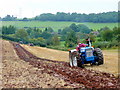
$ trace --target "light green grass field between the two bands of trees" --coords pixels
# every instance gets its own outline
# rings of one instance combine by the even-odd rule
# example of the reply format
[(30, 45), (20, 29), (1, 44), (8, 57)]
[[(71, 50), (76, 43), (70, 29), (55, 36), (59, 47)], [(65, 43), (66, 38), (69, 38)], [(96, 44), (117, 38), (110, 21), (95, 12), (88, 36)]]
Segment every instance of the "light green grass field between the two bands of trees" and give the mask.
[(118, 26), (118, 23), (77, 23), (77, 22), (54, 22), (54, 21), (3, 21), (2, 26), (14, 25), (17, 28), (39, 27), (41, 29), (46, 27), (52, 27), (56, 31), (58, 29), (63, 29), (64, 27), (67, 27), (72, 23), (85, 24), (86, 26), (93, 30), (97, 30), (105, 26), (109, 27), (110, 29), (112, 29), (115, 26)]

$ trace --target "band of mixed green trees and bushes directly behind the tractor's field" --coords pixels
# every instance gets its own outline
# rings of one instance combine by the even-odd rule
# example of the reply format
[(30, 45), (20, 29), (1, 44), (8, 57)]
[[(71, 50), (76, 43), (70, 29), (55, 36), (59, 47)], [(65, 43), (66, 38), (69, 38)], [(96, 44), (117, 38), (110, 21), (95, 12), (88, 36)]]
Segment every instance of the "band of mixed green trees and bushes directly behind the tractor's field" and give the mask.
[(84, 24), (71, 24), (69, 27), (58, 29), (54, 32), (51, 27), (43, 30), (39, 28), (17, 29), (14, 26), (2, 26), (2, 38), (12, 41), (22, 41), (25, 44), (33, 43), (43, 47), (73, 48), (78, 42), (85, 43), (85, 39), (90, 37), (93, 45), (100, 48), (118, 47), (120, 43), (120, 28), (110, 29), (103, 27), (97, 31), (88, 28)]

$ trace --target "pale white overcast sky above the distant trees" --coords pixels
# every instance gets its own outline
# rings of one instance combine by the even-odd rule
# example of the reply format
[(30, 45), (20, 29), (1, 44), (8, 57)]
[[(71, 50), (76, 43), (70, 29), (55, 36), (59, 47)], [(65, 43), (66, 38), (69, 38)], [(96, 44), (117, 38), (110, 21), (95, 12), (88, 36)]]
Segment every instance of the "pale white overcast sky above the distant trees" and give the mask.
[(32, 18), (42, 13), (102, 13), (118, 11), (119, 0), (2, 0), (0, 17)]

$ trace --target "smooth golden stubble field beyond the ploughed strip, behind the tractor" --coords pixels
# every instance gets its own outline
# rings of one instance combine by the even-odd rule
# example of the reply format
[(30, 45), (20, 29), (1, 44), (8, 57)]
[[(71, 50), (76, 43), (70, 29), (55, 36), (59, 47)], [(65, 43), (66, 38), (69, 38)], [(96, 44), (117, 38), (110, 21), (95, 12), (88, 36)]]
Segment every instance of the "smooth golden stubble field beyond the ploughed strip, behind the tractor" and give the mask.
[[(53, 50), (43, 47), (31, 47), (27, 45), (22, 45), (25, 49), (27, 49), (32, 54), (37, 57), (52, 59), (56, 61), (65, 61), (69, 62), (69, 53), (66, 51)], [(90, 66), (85, 65), (87, 69), (93, 69), (102, 72), (108, 72), (118, 76), (118, 50), (103, 50), (104, 55), (104, 64), (100, 66)]]

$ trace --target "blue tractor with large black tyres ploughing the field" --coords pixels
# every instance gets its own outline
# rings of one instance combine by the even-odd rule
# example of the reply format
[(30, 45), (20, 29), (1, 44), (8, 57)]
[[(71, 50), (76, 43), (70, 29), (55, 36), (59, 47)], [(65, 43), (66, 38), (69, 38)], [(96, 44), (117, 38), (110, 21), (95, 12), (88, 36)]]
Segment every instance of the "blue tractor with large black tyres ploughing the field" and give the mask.
[(104, 63), (103, 54), (100, 48), (90, 46), (81, 47), (69, 51), (70, 66), (84, 67), (84, 64), (101, 65)]

